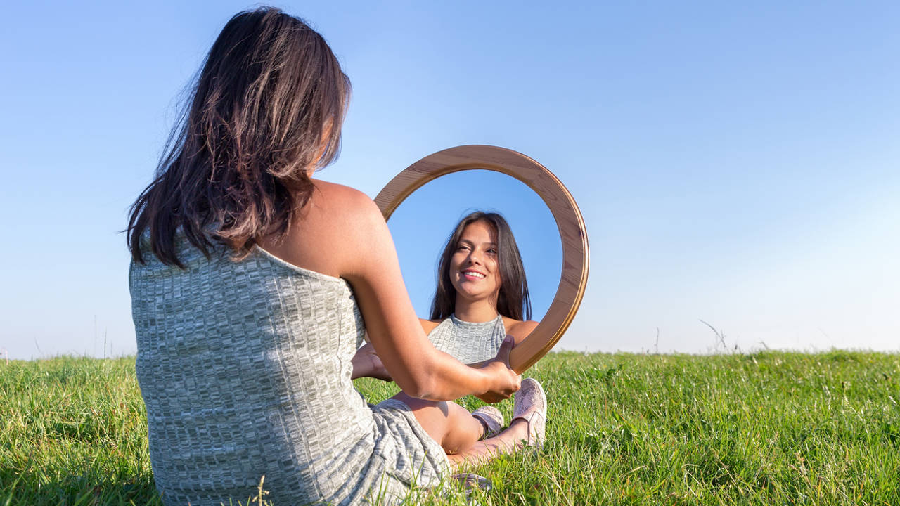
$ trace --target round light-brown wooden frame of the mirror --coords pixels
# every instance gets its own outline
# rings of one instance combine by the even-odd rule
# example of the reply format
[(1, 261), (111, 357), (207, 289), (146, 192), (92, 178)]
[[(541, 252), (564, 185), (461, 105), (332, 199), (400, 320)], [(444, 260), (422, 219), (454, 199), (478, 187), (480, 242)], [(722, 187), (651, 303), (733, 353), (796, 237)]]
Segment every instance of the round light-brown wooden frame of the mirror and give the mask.
[(422, 185), (440, 176), (477, 169), (515, 177), (534, 190), (553, 213), (563, 241), (563, 272), (553, 303), (535, 330), (509, 355), (509, 366), (522, 374), (563, 337), (578, 312), (588, 283), (588, 232), (578, 205), (563, 183), (546, 167), (518, 151), (497, 146), (456, 146), (428, 155), (394, 176), (375, 197), (375, 203), (386, 221)]

